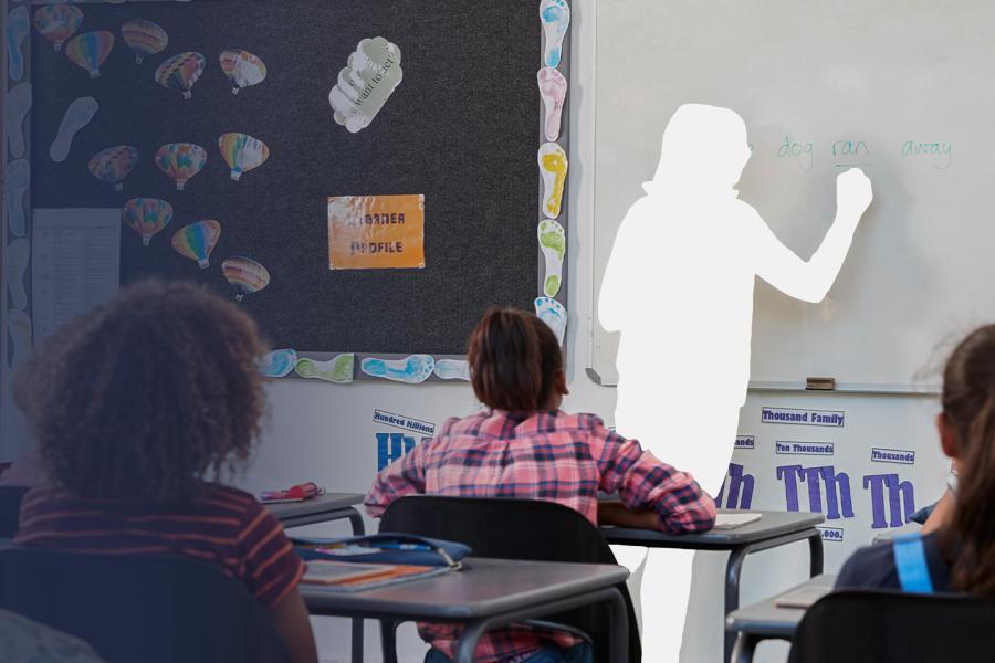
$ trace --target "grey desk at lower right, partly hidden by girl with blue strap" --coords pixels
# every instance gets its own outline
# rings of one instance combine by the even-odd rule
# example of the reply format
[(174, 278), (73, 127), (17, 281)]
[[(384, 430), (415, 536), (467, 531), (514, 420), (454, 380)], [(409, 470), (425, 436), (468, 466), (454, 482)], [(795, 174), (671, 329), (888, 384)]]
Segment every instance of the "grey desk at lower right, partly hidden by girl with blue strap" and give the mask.
[(790, 640), (802, 618), (805, 617), (805, 608), (782, 608), (777, 601), (785, 594), (805, 588), (814, 589), (816, 593), (825, 594), (832, 591), (836, 576), (824, 573), (810, 578), (797, 587), (777, 594), (776, 597), (760, 601), (746, 608), (732, 611), (725, 618), (725, 632), (736, 635), (735, 649), (730, 663), (750, 663), (753, 653), (761, 640), (778, 639)]

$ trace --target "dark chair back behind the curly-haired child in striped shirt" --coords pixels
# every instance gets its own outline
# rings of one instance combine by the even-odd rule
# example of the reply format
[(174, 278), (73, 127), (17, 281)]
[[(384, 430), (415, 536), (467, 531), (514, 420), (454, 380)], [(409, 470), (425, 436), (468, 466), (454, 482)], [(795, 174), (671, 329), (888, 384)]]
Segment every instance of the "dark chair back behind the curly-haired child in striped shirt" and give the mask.
[(75, 635), (109, 663), (286, 663), (266, 610), (180, 557), (0, 551), (0, 608)]

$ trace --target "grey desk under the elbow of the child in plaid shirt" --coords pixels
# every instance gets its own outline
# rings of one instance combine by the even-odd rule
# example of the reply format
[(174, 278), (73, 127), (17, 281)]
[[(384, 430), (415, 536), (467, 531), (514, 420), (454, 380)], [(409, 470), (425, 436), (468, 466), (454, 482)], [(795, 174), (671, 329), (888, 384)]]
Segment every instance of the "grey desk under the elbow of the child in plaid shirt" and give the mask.
[[(726, 512), (720, 511), (720, 513)], [(760, 511), (751, 511), (751, 513), (762, 514), (762, 517), (734, 529), (712, 529), (698, 534), (668, 534), (652, 529), (603, 527), (601, 534), (609, 544), (614, 545), (727, 550), (724, 614), (729, 614), (740, 607), (740, 575), (743, 570), (743, 560), (751, 552), (808, 539), (809, 576), (818, 576), (823, 572), (823, 537), (816, 527), (824, 520), (821, 514)], [(732, 634), (726, 631), (724, 661), (729, 661), (734, 642)]]

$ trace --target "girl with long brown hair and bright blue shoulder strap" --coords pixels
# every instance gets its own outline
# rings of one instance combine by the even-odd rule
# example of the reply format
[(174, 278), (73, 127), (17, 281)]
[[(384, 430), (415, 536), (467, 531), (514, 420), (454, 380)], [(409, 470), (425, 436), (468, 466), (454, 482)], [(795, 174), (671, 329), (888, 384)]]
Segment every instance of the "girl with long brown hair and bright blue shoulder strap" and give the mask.
[[(936, 429), (956, 482), (926, 534), (861, 548), (844, 565), (837, 588), (962, 591), (995, 597), (995, 325), (954, 349), (943, 372)], [(938, 511), (941, 511), (938, 507)]]

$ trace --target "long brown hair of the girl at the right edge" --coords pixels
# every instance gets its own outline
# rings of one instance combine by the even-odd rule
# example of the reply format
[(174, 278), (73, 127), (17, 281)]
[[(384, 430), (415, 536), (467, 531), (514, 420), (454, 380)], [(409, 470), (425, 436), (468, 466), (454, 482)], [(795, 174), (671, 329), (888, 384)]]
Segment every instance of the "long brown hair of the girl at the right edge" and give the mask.
[(942, 402), (964, 472), (940, 548), (954, 589), (995, 597), (995, 325), (976, 329), (954, 349), (943, 372)]

